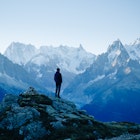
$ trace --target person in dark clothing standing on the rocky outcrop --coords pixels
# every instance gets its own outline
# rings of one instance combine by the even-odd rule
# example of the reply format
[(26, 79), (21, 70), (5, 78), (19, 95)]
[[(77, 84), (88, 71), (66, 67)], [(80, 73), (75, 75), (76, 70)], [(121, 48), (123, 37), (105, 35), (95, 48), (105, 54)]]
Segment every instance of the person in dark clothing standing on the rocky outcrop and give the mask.
[(60, 69), (57, 68), (57, 71), (54, 75), (54, 80), (56, 83), (56, 90), (55, 90), (55, 96), (60, 98), (60, 89), (61, 89), (61, 83), (62, 83), (62, 75), (60, 73)]

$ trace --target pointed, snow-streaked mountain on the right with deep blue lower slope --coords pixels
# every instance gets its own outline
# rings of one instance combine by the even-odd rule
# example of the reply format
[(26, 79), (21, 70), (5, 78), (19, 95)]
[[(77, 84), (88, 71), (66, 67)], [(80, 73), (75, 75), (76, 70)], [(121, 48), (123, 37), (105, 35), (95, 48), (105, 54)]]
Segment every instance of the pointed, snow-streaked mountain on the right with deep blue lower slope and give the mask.
[(114, 41), (106, 53), (75, 77), (64, 95), (101, 121), (140, 123), (138, 41), (131, 46)]

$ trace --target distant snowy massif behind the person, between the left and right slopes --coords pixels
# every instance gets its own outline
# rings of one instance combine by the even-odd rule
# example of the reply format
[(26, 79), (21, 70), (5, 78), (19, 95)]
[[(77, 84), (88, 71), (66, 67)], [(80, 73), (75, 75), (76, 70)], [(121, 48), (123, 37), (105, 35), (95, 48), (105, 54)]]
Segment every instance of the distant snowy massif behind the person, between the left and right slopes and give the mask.
[(76, 74), (82, 73), (93, 63), (95, 55), (79, 48), (68, 46), (41, 46), (11, 43), (4, 55), (13, 63), (22, 66), (31, 77), (47, 90), (54, 90), (54, 73), (60, 67), (64, 89)]

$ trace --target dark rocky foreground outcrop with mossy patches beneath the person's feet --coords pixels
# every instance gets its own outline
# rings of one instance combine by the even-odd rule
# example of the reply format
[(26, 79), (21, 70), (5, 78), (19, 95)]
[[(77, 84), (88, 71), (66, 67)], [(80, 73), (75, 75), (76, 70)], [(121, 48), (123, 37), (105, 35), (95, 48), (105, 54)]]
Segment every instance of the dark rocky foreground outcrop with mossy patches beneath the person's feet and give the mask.
[(94, 140), (139, 134), (140, 125), (101, 123), (75, 104), (29, 88), (7, 94), (0, 104), (1, 140)]

